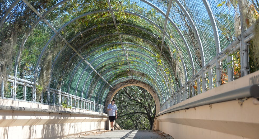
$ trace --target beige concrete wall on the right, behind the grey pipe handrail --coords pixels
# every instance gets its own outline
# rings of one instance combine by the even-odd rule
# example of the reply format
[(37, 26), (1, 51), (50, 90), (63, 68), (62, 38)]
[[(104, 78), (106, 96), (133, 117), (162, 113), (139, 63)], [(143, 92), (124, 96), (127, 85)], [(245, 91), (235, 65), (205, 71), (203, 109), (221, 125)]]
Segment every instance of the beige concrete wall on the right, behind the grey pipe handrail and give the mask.
[[(172, 107), (258, 84), (258, 77), (259, 72), (249, 74)], [(256, 78), (256, 83), (251, 82), (254, 78)], [(256, 98), (243, 98), (173, 111), (158, 116), (154, 125), (156, 125), (155, 129), (171, 135), (174, 139), (258, 139), (258, 102)]]

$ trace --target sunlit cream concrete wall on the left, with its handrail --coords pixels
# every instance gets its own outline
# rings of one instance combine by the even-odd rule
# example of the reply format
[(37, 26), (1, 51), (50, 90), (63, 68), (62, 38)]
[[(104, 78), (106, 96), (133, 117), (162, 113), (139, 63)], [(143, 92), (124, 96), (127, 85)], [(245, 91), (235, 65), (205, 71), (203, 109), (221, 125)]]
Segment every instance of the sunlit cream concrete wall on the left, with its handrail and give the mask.
[(107, 128), (105, 113), (4, 99), (0, 106), (0, 139), (66, 138)]

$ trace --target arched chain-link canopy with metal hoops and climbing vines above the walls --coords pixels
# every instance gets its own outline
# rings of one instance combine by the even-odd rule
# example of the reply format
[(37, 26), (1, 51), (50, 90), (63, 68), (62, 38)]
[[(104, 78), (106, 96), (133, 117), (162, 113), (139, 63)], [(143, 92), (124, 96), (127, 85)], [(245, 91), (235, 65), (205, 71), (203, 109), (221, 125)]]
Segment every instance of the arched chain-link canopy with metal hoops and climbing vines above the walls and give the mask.
[(160, 113), (258, 70), (258, 1), (0, 4), (1, 99), (103, 113), (137, 85)]

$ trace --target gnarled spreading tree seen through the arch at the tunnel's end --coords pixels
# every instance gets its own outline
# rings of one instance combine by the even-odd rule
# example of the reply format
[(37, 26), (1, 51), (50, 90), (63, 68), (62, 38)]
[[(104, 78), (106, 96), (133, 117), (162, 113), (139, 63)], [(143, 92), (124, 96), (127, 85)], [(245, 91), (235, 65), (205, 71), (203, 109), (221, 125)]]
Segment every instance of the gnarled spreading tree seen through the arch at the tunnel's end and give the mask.
[(155, 101), (144, 88), (128, 86), (115, 95), (118, 107), (117, 123), (128, 130), (152, 130)]

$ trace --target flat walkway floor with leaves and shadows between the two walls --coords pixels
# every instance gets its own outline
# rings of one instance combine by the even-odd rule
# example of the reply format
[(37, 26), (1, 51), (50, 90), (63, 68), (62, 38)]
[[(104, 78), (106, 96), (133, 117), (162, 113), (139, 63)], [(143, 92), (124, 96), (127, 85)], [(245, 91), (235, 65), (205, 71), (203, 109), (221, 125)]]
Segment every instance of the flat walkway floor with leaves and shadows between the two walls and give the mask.
[(114, 130), (99, 131), (71, 136), (66, 139), (173, 139), (172, 136), (159, 130)]

